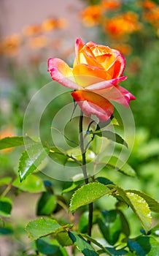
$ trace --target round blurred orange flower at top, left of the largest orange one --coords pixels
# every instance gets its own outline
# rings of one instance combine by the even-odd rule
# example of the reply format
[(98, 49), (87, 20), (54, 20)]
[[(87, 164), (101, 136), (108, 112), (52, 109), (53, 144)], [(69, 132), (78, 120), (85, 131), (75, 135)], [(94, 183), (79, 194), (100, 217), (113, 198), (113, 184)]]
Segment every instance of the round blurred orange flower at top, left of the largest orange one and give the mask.
[(102, 10), (99, 5), (86, 7), (81, 12), (82, 22), (85, 26), (96, 26), (101, 21)]

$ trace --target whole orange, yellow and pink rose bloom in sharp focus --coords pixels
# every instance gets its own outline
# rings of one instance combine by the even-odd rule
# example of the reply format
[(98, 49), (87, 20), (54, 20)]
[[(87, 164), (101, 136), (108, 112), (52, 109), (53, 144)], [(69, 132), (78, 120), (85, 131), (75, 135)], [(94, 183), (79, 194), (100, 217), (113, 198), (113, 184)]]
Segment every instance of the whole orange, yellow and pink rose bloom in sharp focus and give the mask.
[(76, 41), (75, 53), (73, 68), (63, 60), (53, 58), (48, 60), (48, 71), (53, 80), (74, 89), (71, 96), (82, 112), (106, 121), (114, 111), (110, 101), (128, 107), (135, 97), (117, 85), (127, 78), (123, 76), (125, 58), (121, 53), (95, 42), (85, 44), (81, 39)]

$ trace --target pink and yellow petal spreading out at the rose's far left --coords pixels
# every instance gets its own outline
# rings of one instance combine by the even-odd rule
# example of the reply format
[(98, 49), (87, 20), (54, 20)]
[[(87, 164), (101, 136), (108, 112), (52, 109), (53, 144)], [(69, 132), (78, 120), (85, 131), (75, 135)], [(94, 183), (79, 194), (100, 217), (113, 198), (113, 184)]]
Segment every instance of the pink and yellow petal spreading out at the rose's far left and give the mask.
[(80, 85), (74, 83), (72, 69), (65, 61), (58, 58), (49, 59), (48, 71), (50, 72), (51, 78), (58, 83), (61, 83), (63, 86), (76, 90), (82, 89)]

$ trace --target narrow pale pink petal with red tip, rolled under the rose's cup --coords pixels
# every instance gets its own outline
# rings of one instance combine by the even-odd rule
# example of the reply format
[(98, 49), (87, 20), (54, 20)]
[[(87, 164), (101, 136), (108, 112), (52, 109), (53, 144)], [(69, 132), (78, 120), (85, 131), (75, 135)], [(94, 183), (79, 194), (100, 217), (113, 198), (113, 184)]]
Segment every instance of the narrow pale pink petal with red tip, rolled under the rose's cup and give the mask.
[[(120, 78), (115, 78), (115, 79), (111, 79), (111, 80), (104, 80), (101, 81), (99, 83), (95, 83), (91, 86), (87, 86), (86, 89), (89, 91), (94, 91), (98, 93), (98, 90), (104, 90), (104, 89), (109, 89), (112, 86), (116, 86), (117, 83), (120, 83), (121, 81), (125, 80), (127, 77), (120, 77)], [(99, 92), (100, 94), (100, 92)]]

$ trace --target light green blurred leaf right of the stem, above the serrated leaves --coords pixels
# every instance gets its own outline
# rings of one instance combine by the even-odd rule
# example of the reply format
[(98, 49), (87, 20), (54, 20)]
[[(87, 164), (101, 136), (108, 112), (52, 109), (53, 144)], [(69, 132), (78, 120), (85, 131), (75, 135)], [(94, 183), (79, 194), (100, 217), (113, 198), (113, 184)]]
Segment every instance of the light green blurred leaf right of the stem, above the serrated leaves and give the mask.
[(122, 160), (118, 159), (115, 156), (112, 156), (111, 158), (104, 157), (104, 159), (102, 159), (102, 162), (103, 161), (106, 162), (106, 167), (114, 168), (115, 170), (118, 170), (120, 173), (123, 173), (126, 176), (136, 176), (135, 170), (133, 170), (133, 168), (130, 165), (128, 165), (126, 162), (123, 162)]

